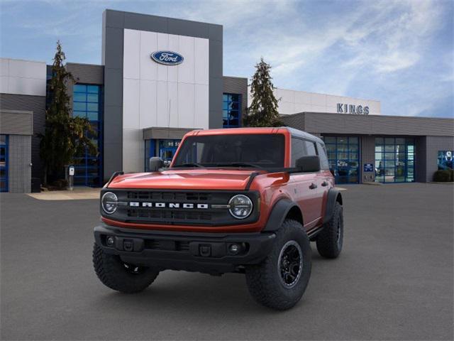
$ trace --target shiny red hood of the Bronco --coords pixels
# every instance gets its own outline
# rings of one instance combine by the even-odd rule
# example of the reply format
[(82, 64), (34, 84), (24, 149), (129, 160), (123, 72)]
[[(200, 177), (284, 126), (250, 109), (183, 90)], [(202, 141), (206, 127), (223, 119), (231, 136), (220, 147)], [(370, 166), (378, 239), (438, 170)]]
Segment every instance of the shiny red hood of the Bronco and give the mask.
[(244, 190), (254, 170), (186, 169), (118, 175), (109, 188)]

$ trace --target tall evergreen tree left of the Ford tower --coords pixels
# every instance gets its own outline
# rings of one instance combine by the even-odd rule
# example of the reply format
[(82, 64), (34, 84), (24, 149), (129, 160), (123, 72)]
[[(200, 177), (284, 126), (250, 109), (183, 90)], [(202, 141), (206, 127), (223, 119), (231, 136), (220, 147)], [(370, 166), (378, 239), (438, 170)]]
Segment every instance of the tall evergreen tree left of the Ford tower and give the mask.
[(65, 166), (74, 155), (81, 155), (86, 148), (96, 153), (96, 147), (87, 137), (94, 129), (87, 118), (71, 117), (70, 96), (67, 84), (74, 83), (74, 77), (66, 70), (63, 62), (65, 53), (60, 40), (52, 64), (52, 79), (48, 84), (48, 107), (45, 112), (45, 134), (40, 134), (40, 158), (44, 166), (44, 185), (48, 175), (62, 176)]

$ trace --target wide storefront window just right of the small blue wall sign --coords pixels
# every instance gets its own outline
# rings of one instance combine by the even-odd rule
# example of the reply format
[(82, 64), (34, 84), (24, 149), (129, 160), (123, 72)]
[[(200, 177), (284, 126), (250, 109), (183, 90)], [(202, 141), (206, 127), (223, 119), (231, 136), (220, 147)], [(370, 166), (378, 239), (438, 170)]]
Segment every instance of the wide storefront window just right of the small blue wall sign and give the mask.
[(414, 139), (375, 138), (375, 182), (414, 182)]

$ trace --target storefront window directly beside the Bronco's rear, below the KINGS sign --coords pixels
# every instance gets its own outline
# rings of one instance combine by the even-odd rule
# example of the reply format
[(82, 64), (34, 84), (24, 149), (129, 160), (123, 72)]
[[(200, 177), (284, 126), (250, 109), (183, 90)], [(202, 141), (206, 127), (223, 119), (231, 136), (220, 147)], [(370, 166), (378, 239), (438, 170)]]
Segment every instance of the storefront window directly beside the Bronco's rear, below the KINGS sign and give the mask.
[(331, 173), (336, 183), (359, 183), (360, 139), (358, 136), (323, 136)]

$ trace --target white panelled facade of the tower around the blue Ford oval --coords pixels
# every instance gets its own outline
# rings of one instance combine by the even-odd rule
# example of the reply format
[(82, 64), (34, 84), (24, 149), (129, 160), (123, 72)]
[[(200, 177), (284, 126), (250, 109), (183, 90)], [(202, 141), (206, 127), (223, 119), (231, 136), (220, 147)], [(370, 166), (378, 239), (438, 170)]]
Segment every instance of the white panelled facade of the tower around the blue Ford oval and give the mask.
[[(123, 168), (143, 171), (143, 134), (137, 131), (152, 126), (208, 128), (209, 40), (129, 29), (124, 33)], [(162, 50), (179, 53), (183, 63), (156, 63), (151, 54)]]

